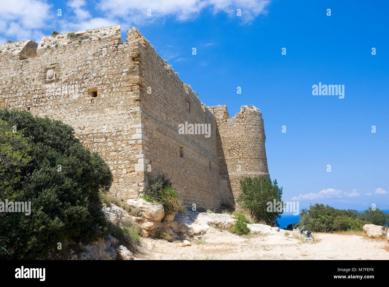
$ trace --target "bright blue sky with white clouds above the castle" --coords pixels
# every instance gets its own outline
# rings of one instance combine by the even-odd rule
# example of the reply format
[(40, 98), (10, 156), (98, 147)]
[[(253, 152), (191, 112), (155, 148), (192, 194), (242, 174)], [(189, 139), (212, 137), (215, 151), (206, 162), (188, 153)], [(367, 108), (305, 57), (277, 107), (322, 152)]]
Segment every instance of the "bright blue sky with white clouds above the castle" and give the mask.
[[(0, 7), (0, 43), (116, 24), (125, 41), (136, 26), (204, 104), (226, 104), (230, 116), (241, 105), (261, 110), (269, 173), (284, 200), (389, 208), (387, 1), (0, 0)], [(344, 85), (344, 99), (312, 95), (319, 82)]]

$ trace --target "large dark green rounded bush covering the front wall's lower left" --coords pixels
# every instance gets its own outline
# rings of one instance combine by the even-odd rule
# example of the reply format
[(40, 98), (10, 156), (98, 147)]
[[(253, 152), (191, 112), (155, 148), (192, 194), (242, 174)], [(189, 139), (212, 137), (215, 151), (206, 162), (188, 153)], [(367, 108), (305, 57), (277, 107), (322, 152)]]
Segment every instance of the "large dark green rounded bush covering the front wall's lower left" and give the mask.
[(30, 215), (0, 213), (0, 259), (42, 259), (66, 238), (106, 235), (98, 194), (113, 178), (102, 158), (61, 121), (9, 109), (0, 121), (0, 201), (31, 202)]

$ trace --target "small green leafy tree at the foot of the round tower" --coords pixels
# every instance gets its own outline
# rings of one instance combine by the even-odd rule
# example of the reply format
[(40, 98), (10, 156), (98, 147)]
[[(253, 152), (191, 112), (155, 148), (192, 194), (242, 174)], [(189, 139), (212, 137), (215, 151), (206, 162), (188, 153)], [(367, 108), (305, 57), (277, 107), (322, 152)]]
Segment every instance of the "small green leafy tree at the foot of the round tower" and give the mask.
[(272, 182), (265, 176), (246, 177), (239, 184), (241, 193), (237, 197), (238, 205), (255, 220), (278, 225), (277, 219), (281, 217), (282, 209), (267, 211), (268, 202), (281, 202), (282, 187), (278, 187), (277, 180)]

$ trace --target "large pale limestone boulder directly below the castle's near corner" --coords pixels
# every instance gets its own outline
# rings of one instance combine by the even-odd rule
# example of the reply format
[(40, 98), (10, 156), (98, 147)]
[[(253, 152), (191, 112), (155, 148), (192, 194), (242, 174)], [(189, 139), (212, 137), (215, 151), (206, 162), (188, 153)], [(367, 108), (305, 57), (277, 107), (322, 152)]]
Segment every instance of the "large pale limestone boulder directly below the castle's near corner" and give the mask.
[(163, 206), (159, 203), (147, 202), (142, 198), (133, 198), (128, 199), (126, 204), (128, 213), (135, 217), (160, 222), (165, 216)]

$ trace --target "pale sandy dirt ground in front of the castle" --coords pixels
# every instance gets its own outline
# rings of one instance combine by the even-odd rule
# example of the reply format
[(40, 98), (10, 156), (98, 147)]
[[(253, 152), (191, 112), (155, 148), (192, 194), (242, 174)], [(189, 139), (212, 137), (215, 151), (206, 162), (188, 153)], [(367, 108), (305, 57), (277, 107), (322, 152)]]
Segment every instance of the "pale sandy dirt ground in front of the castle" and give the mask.
[(329, 259), (369, 260), (389, 259), (385, 241), (359, 235), (314, 234), (315, 241), (304, 243), (288, 234), (237, 236), (228, 231), (210, 229), (205, 235), (191, 240), (191, 246), (162, 239), (142, 239), (138, 259)]

